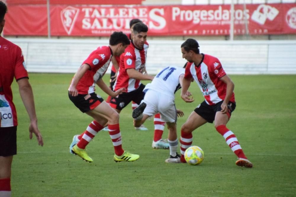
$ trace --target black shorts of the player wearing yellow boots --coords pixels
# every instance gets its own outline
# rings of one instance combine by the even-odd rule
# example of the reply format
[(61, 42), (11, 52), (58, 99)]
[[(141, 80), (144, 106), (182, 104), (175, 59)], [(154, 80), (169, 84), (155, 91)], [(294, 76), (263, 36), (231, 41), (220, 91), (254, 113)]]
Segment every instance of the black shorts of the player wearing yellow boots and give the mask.
[(68, 96), (74, 105), (83, 113), (96, 108), (96, 106), (104, 101), (104, 99), (102, 99), (99, 95), (96, 95), (96, 93), (78, 94), (78, 96), (72, 96), (68, 92)]

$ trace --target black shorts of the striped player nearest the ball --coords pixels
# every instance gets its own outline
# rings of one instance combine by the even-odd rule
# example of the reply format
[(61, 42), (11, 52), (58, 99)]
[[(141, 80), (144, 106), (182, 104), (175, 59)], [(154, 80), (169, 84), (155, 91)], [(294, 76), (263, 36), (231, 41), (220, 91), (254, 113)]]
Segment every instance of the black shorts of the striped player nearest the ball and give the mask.
[[(213, 123), (215, 120), (216, 112), (221, 111), (221, 104), (223, 101), (220, 101), (219, 103), (215, 105), (208, 105), (205, 101), (203, 101), (201, 104), (197, 106), (197, 108), (194, 109), (194, 112), (196, 112), (198, 115), (203, 117), (207, 122)], [(227, 115), (230, 118), (231, 112), (234, 111), (236, 104), (235, 102), (228, 102), (228, 112)]]

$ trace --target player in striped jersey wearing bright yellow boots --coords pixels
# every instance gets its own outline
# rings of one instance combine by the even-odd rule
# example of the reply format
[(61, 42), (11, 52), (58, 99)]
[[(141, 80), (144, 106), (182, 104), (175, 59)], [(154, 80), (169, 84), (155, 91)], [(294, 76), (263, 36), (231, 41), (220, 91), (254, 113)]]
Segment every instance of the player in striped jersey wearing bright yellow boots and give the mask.
[(122, 32), (114, 32), (110, 35), (109, 46), (101, 46), (94, 50), (82, 63), (73, 77), (69, 87), (69, 98), (81, 112), (94, 118), (81, 135), (75, 135), (70, 145), (70, 153), (80, 156), (87, 162), (93, 160), (87, 155), (85, 148), (95, 135), (108, 123), (109, 134), (114, 146), (114, 160), (135, 161), (139, 155), (130, 154), (122, 148), (121, 134), (119, 129), (119, 114), (112, 109), (101, 96), (95, 93), (97, 84), (110, 96), (117, 96), (126, 91), (119, 88), (115, 92), (110, 90), (102, 80), (112, 55), (118, 56), (123, 53), (130, 41)]

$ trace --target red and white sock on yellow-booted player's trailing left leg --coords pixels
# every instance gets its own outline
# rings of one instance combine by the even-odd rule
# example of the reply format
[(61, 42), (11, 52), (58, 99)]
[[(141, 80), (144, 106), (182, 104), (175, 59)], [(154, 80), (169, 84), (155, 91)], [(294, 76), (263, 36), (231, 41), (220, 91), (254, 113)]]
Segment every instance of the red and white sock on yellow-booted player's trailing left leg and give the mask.
[(96, 136), (96, 134), (104, 128), (95, 120), (92, 121), (81, 135), (78, 136), (79, 142), (77, 143), (78, 148), (85, 149), (90, 141)]

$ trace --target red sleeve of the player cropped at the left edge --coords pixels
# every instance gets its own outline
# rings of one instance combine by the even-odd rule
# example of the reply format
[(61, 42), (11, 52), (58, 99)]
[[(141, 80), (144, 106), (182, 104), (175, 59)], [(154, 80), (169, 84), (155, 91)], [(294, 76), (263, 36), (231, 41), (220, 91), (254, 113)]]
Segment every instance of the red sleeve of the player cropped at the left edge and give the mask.
[(24, 56), (22, 55), (22, 50), (20, 47), (16, 49), (16, 59), (15, 59), (15, 80), (28, 77), (28, 72), (26, 70), (26, 65), (24, 61)]

